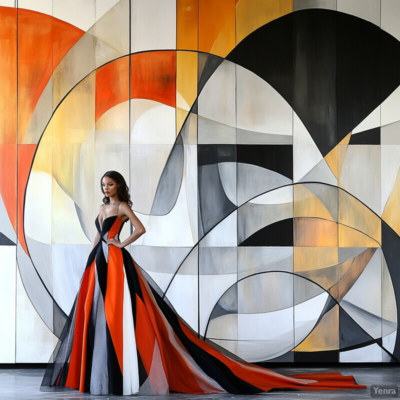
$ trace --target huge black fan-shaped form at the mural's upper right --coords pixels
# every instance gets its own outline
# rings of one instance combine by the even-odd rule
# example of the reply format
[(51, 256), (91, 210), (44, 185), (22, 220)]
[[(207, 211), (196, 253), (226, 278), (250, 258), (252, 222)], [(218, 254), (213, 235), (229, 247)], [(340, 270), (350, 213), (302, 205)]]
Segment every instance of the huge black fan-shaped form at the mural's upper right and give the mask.
[(369, 21), (328, 9), (277, 18), (226, 59), (278, 91), (322, 155), (400, 84), (400, 42)]

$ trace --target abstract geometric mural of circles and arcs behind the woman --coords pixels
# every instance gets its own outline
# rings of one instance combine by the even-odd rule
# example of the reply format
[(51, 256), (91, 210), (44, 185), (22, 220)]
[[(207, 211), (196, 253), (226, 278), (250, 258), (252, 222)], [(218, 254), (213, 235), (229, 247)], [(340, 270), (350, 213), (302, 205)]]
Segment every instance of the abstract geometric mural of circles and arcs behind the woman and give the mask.
[(109, 169), (146, 228), (130, 253), (200, 337), (398, 362), (399, 21), (396, 0), (0, 0), (0, 362), (48, 360)]

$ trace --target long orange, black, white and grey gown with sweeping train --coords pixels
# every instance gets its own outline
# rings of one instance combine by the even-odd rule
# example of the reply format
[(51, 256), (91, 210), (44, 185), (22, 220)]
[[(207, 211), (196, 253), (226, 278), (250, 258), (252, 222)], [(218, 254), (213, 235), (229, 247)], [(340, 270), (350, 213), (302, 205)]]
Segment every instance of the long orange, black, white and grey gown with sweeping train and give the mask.
[(95, 225), (79, 291), (41, 384), (92, 394), (246, 393), (364, 388), (339, 372), (286, 376), (233, 359), (197, 337), (149, 285), (118, 237), (117, 215)]

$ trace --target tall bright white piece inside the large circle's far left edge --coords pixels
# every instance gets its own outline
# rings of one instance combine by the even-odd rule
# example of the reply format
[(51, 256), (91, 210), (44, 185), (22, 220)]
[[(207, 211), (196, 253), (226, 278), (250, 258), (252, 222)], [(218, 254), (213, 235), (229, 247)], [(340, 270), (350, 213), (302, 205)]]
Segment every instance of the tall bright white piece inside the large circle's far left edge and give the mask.
[(26, 186), (23, 225), (27, 236), (47, 244), (51, 243), (51, 196), (51, 175), (32, 169)]

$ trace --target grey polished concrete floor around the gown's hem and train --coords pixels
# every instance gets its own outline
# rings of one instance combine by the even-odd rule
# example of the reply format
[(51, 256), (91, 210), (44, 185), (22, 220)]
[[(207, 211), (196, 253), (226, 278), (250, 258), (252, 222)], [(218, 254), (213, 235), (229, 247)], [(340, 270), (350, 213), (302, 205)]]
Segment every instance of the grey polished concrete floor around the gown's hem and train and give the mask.
[[(291, 400), (291, 399), (334, 399), (334, 400), (359, 400), (371, 398), (370, 385), (390, 384), (400, 385), (400, 365), (398, 364), (377, 364), (368, 366), (339, 366), (335, 368), (314, 367), (314, 368), (273, 368), (284, 374), (294, 374), (302, 372), (324, 372), (339, 370), (343, 375), (354, 375), (359, 384), (367, 385), (366, 389), (357, 390), (328, 390), (328, 391), (274, 391), (256, 395), (188, 395), (171, 393), (169, 396), (98, 396), (87, 393), (80, 393), (77, 390), (63, 392), (41, 392), (39, 386), (44, 369), (40, 368), (11, 368), (0, 369), (0, 400), (126, 400), (135, 398), (136, 400), (244, 400), (255, 397), (258, 400)], [(388, 397), (382, 397), (388, 398)]]

